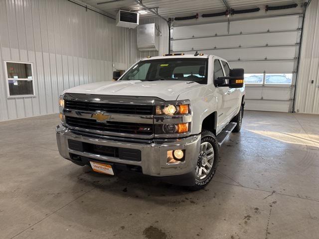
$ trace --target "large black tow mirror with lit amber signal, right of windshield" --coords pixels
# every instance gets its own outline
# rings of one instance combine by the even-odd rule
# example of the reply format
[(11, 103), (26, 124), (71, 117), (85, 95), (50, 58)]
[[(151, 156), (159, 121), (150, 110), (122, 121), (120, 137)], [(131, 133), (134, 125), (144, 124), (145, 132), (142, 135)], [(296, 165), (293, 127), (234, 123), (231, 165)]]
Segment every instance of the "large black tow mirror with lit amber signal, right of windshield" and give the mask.
[[(228, 80), (228, 84), (225, 84), (224, 80)], [(242, 88), (244, 86), (244, 69), (230, 69), (229, 76), (218, 77), (215, 84), (219, 87)]]

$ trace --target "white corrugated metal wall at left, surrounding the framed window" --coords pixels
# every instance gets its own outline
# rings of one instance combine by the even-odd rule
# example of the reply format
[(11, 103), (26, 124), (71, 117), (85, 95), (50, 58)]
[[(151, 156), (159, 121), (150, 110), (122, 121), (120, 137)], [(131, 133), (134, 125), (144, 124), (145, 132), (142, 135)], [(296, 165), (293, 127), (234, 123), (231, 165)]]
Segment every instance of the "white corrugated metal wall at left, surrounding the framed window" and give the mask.
[[(140, 58), (136, 30), (67, 0), (0, 0), (0, 121), (58, 112), (58, 96)], [(7, 98), (4, 60), (33, 63), (35, 97)]]

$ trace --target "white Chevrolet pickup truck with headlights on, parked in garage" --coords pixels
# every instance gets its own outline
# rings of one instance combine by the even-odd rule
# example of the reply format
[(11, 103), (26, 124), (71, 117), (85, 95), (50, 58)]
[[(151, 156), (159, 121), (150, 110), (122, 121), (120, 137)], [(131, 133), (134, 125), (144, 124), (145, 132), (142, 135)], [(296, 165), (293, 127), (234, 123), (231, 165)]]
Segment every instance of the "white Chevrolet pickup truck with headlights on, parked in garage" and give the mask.
[(244, 70), (197, 52), (148, 57), (116, 81), (64, 91), (59, 105), (64, 158), (198, 190), (214, 176), (221, 143), (241, 128)]

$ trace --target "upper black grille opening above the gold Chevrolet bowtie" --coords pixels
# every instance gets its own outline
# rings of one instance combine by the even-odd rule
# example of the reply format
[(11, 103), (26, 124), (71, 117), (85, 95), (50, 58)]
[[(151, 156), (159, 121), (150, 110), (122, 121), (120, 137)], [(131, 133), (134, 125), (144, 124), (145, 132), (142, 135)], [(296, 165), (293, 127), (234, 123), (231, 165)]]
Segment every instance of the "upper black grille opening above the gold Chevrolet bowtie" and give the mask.
[(127, 114), (127, 115), (153, 115), (154, 107), (152, 105), (127, 105), (127, 104), (109, 104), (84, 101), (65, 101), (65, 109), (96, 112), (104, 111), (106, 113)]

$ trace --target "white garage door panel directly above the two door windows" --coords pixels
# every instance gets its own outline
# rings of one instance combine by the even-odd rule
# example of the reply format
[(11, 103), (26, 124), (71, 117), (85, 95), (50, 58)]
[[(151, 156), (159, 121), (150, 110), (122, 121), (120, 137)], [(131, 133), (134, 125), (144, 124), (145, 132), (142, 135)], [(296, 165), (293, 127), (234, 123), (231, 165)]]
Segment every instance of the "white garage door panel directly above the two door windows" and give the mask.
[(245, 73), (292, 73), (295, 61), (234, 61), (229, 62), (231, 68), (243, 68)]

